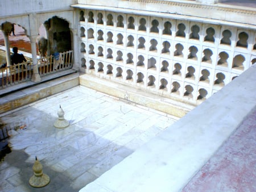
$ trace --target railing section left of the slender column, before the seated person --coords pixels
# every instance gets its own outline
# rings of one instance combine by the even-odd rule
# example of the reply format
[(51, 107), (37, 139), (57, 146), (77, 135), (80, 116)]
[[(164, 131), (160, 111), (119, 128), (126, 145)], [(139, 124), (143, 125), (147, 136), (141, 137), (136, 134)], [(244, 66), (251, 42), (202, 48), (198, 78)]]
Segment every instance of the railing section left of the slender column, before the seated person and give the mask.
[(32, 61), (22, 62), (0, 69), (1, 86), (6, 87), (30, 81), (32, 77)]

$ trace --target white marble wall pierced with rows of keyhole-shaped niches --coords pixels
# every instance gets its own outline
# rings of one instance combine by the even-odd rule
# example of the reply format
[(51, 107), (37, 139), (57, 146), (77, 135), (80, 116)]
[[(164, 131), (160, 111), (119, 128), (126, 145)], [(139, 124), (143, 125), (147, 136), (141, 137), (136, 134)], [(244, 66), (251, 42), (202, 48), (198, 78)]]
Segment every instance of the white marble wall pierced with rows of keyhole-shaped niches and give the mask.
[[(77, 12), (84, 16), (78, 17), (81, 68), (167, 97), (189, 102), (209, 98), (256, 60), (256, 33), (246, 28), (101, 10)], [(191, 49), (197, 50), (192, 58)]]

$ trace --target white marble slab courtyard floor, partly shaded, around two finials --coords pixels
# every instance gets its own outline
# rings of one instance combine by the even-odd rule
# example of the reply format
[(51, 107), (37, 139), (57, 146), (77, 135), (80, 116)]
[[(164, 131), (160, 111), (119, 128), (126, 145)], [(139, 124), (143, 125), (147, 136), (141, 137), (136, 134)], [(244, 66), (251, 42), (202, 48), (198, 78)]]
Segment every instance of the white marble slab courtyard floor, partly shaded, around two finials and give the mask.
[[(53, 126), (59, 105), (69, 127)], [(177, 119), (77, 86), (2, 114), (11, 153), (0, 162), (0, 191), (78, 191)], [(51, 181), (33, 188), (35, 156)]]

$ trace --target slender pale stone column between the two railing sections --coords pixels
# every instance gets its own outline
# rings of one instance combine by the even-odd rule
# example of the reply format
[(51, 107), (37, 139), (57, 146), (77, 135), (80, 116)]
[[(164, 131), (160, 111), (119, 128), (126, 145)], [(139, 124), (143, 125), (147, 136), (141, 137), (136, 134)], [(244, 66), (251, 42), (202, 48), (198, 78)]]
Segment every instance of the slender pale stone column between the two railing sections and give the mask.
[(30, 36), (31, 41), (31, 52), (32, 52), (32, 62), (33, 62), (33, 75), (31, 81), (39, 82), (41, 81), (41, 77), (38, 73), (38, 60), (36, 59), (36, 37)]

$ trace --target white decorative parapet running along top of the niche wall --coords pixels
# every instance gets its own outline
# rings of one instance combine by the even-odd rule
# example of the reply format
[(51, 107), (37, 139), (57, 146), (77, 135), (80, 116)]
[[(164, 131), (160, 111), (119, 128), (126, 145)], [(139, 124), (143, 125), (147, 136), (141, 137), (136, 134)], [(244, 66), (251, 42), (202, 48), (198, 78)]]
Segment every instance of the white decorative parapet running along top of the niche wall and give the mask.
[[(256, 28), (256, 11), (254, 7), (232, 6), (217, 4), (206, 4), (193, 1), (158, 1), (158, 0), (79, 0), (79, 4), (72, 7), (118, 11), (127, 9), (127, 12), (135, 12), (142, 15), (159, 15), (165, 17), (177, 18), (188, 16), (188, 20), (207, 19), (209, 23), (221, 23), (232, 25), (235, 24), (246, 28)], [(100, 5), (100, 6), (98, 6)], [(109, 9), (108, 9), (109, 7)], [(111, 8), (110, 8), (111, 7)], [(113, 9), (115, 7), (115, 9)], [(151, 13), (151, 14), (150, 14)], [(168, 14), (168, 15), (164, 15)], [(171, 15), (172, 14), (172, 15)], [(227, 23), (225, 23), (227, 22)], [(232, 23), (229, 23), (232, 22)]]

